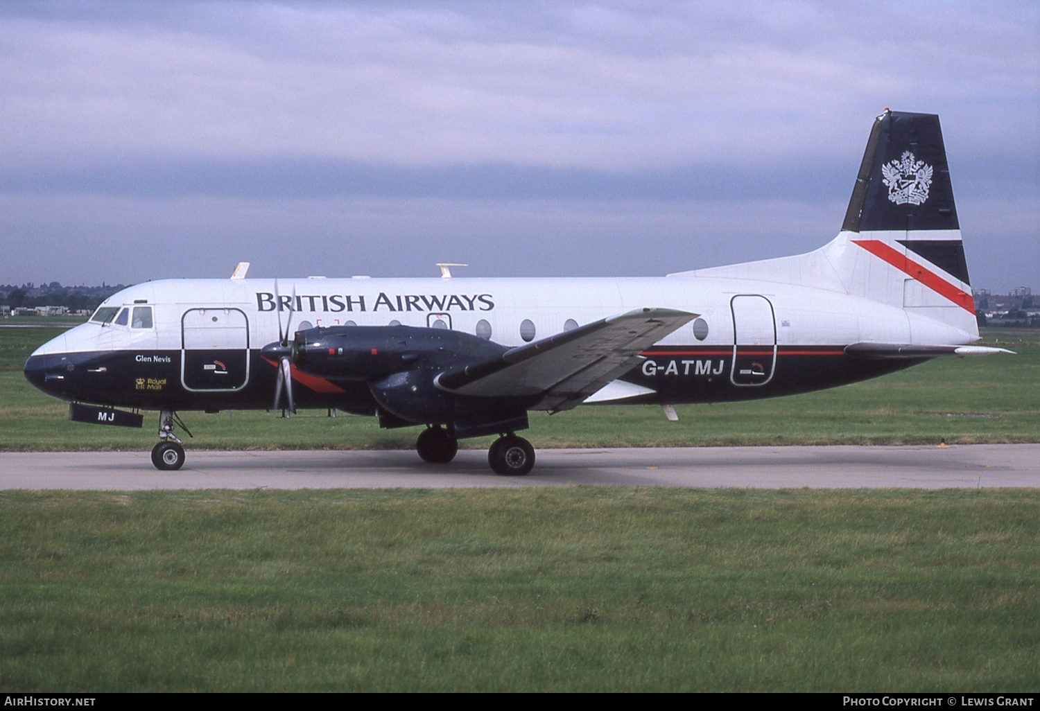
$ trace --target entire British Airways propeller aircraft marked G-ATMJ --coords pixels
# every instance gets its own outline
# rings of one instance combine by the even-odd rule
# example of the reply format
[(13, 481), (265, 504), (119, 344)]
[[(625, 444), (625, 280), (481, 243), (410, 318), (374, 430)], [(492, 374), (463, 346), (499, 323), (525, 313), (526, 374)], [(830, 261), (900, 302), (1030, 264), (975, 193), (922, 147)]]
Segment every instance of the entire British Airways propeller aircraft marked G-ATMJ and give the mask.
[[(178, 411), (338, 409), (421, 426), (435, 464), (499, 436), (521, 475), (529, 411), (804, 393), (979, 340), (936, 115), (874, 123), (837, 237), (815, 252), (651, 279), (170, 280), (124, 289), (25, 364), (75, 420), (140, 426), (178, 469)], [(120, 407), (124, 410), (119, 410)]]

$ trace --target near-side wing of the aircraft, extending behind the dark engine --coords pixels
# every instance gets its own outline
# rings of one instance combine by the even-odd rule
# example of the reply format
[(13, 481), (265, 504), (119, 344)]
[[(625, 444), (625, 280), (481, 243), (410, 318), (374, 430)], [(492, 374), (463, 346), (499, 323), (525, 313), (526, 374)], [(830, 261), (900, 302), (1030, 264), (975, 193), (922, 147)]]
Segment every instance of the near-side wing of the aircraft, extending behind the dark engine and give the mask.
[(474, 397), (541, 395), (536, 410), (570, 410), (640, 363), (648, 346), (697, 316), (673, 309), (629, 311), (441, 373), (437, 387)]

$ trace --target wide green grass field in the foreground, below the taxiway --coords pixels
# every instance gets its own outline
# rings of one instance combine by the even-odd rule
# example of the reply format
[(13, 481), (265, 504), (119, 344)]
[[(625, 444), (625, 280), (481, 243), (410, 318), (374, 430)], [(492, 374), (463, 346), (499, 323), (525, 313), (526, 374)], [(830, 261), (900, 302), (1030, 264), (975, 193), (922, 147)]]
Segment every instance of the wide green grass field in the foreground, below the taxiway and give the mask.
[(0, 493), (0, 686), (1035, 691), (1038, 504)]

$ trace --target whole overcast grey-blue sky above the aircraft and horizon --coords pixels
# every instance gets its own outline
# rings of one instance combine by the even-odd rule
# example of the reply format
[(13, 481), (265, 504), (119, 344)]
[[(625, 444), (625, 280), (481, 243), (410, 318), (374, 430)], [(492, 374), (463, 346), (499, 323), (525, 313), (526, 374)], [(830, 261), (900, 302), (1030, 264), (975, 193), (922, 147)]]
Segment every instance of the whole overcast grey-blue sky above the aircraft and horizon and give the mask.
[(649, 275), (807, 252), (941, 117), (972, 285), (1040, 290), (1022, 2), (0, 4), (0, 284)]

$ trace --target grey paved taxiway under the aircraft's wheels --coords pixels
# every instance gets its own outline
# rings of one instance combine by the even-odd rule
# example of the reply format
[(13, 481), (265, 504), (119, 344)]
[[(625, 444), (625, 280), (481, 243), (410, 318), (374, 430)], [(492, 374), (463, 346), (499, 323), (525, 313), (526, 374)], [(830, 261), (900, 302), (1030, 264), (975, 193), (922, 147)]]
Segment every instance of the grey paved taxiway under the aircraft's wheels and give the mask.
[(388, 489), (460, 486), (978, 489), (1040, 486), (1040, 444), (948, 447), (542, 449), (524, 477), (487, 453), (449, 465), (413, 451), (196, 451), (177, 472), (144, 452), (3, 452), (0, 490)]

